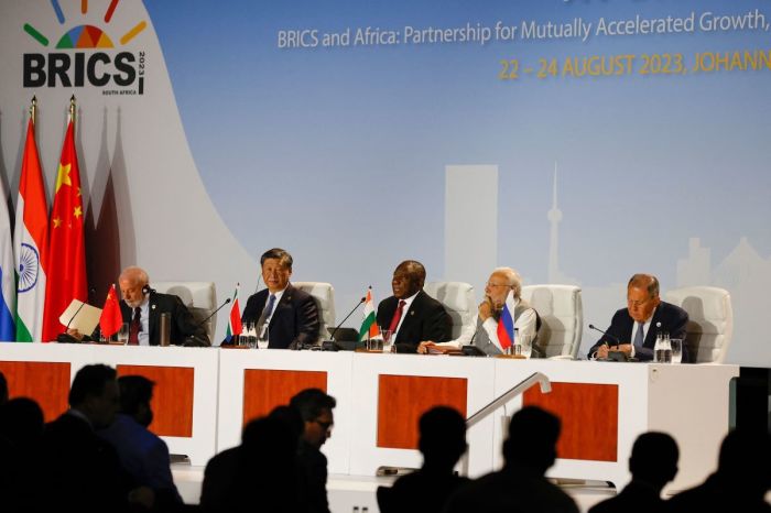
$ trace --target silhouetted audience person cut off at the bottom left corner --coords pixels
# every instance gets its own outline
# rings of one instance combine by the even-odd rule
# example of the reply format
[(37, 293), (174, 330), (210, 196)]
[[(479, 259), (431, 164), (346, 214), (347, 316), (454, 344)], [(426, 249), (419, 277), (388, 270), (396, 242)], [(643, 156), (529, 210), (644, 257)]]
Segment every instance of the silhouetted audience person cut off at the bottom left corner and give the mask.
[(28, 397), (0, 405), (0, 510), (36, 511), (43, 411)]

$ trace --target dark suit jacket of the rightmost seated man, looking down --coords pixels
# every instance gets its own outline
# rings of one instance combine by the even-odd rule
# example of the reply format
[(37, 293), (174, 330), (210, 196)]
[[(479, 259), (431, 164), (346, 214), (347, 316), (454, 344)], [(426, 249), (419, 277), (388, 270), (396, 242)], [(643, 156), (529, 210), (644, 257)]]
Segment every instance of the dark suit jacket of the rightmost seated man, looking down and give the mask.
[[(688, 314), (680, 306), (672, 305), (670, 303), (661, 302), (653, 313), (653, 319), (651, 320), (651, 326), (648, 328), (645, 334), (645, 340), (642, 343), (642, 349), (634, 350), (634, 358), (640, 361), (653, 360), (653, 346), (655, 345), (656, 336), (656, 323), (661, 323), (661, 330), (670, 334), (670, 338), (682, 338), (683, 339), (683, 362), (689, 362), (687, 345), (685, 343), (686, 337), (686, 326), (688, 324)], [(634, 326), (634, 319), (629, 315), (627, 308), (621, 308), (616, 312), (612, 320), (610, 321), (610, 327), (606, 330), (612, 337), (604, 335), (597, 343), (595, 343), (591, 349), (589, 349), (589, 357), (594, 354), (597, 349), (604, 345), (608, 343), (610, 346), (616, 346), (617, 343), (632, 343), (632, 327)], [(613, 339), (616, 337), (616, 339)]]

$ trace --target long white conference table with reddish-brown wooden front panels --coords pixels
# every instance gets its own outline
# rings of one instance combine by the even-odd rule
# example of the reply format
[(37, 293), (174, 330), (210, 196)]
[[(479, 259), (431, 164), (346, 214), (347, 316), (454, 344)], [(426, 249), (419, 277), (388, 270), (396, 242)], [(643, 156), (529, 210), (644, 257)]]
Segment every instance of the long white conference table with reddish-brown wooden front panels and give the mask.
[(249, 418), (285, 404), (304, 388), (322, 388), (337, 400), (333, 437), (323, 449), (329, 472), (351, 476), (373, 476), (380, 466), (420, 467), (422, 412), (447, 404), (470, 416), (537, 371), (552, 381), (551, 394), (533, 388), (469, 430), (471, 477), (502, 465), (506, 416), (537, 404), (563, 421), (560, 458), (550, 476), (622, 487), (634, 439), (655, 429), (670, 433), (680, 446), (680, 472), (669, 487), (675, 490), (715, 468), (728, 432), (729, 382), (739, 374), (736, 365), (713, 364), (0, 343), (0, 370), (11, 394), (36, 399), (46, 421), (66, 408), (69, 383), (86, 363), (116, 365), (119, 373), (155, 381), (151, 429), (194, 466), (238, 445)]

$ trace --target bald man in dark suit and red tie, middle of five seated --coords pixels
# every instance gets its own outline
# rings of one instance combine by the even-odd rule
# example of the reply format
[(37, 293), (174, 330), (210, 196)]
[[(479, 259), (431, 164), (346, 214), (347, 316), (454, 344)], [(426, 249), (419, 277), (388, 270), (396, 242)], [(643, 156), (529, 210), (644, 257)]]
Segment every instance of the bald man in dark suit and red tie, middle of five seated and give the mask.
[(393, 295), (378, 305), (378, 326), (389, 329), (397, 352), (417, 352), (423, 340), (446, 342), (453, 336), (453, 320), (442, 303), (423, 292), (425, 268), (405, 260), (393, 272)]

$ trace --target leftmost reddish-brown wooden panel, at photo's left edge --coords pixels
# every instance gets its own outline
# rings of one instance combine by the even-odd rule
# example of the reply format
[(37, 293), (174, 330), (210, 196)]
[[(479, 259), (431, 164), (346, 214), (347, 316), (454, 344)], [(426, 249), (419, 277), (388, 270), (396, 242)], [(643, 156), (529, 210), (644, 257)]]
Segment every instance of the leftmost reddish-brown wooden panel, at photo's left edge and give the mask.
[(69, 362), (0, 361), (10, 397), (30, 397), (51, 422), (67, 411), (69, 396)]

